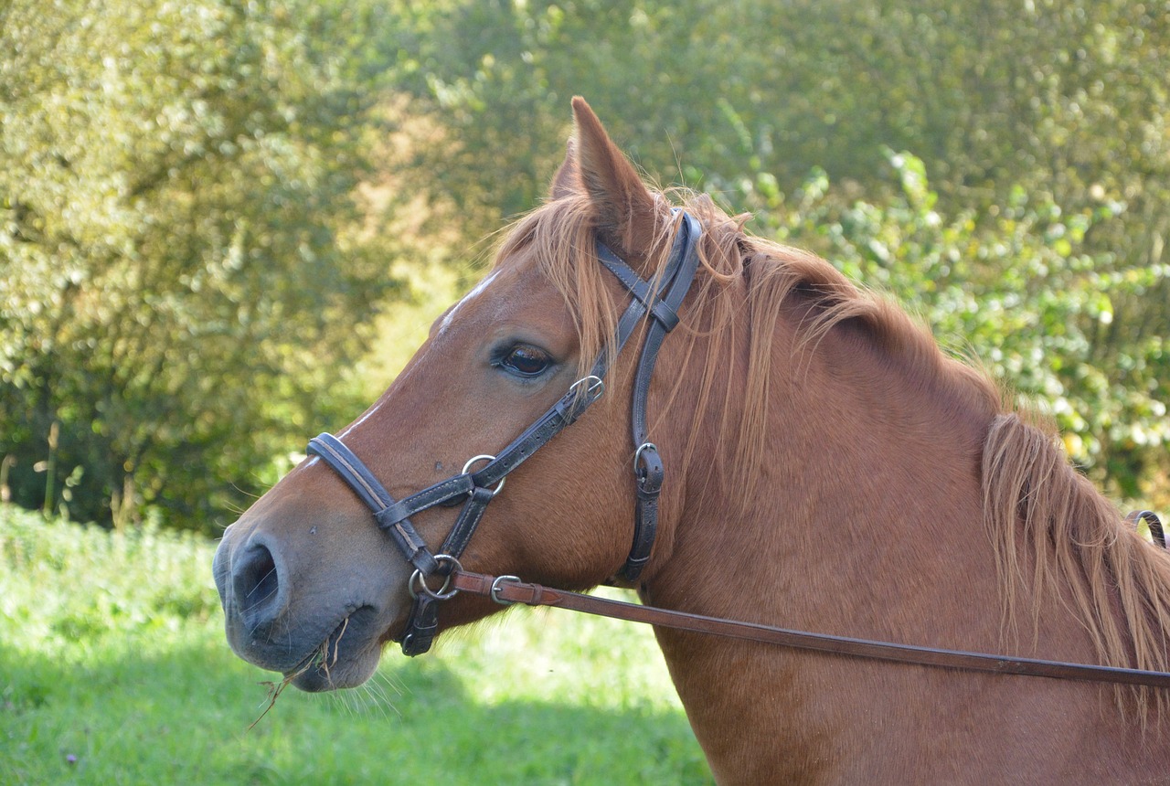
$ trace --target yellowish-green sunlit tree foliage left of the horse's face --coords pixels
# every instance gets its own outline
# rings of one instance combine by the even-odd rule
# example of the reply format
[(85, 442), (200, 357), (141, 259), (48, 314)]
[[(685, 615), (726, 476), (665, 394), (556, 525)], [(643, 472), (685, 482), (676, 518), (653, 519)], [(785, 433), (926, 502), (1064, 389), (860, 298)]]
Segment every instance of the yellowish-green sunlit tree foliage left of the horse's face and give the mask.
[(357, 22), (309, 1), (0, 11), (15, 499), (212, 528), (314, 421), (358, 407), (324, 363), (363, 350), (391, 283), (353, 201), (373, 129)]

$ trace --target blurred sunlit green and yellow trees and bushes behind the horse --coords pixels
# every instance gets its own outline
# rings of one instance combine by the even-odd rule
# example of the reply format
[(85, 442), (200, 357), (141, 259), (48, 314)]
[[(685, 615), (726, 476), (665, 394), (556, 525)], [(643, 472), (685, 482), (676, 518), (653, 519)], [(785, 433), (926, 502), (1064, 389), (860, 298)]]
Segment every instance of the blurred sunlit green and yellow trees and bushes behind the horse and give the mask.
[(1168, 28), (1164, 0), (12, 0), (0, 488), (222, 526), (388, 381), (583, 94), (1164, 504)]

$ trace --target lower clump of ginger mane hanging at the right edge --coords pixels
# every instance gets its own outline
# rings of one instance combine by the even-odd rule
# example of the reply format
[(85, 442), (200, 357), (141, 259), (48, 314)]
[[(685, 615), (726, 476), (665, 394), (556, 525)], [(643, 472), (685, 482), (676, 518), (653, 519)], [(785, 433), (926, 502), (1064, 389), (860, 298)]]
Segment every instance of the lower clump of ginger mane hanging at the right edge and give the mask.
[[(997, 415), (983, 448), (983, 517), (1004, 590), (1005, 622), (1018, 623), (1028, 588), (1081, 621), (1101, 663), (1170, 670), (1170, 559), (1128, 526), (1073, 469), (1055, 439), (1018, 414)], [(1040, 604), (1032, 602), (1033, 642)], [(1135, 690), (1144, 717), (1150, 690)], [(1164, 711), (1166, 697), (1157, 695)], [(1119, 692), (1119, 698), (1121, 694)]]

